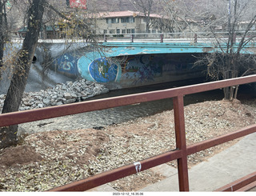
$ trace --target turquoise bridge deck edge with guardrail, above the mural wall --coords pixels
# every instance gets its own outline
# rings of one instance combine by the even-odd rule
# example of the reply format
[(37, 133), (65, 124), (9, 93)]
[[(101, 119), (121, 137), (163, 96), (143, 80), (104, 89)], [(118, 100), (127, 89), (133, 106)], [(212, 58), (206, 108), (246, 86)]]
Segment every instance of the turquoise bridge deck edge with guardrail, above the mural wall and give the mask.
[[(249, 34), (247, 38), (250, 38), (250, 35), (254, 36)], [(226, 49), (228, 42), (226, 36), (226, 32), (126, 34), (121, 37), (120, 34), (104, 34), (102, 46), (106, 47), (106, 56), (109, 57), (135, 54), (212, 53), (221, 52), (221, 48)], [(234, 38), (234, 50), (238, 48), (240, 41), (241, 37)], [(255, 52), (256, 43), (252, 39), (244, 46), (242, 53), (255, 54)]]

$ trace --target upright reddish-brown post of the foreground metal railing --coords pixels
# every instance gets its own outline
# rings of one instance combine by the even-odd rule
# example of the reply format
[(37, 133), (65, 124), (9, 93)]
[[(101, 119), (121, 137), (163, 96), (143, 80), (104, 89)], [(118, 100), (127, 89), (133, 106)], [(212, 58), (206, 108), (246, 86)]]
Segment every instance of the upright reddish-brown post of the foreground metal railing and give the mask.
[(186, 130), (184, 118), (183, 96), (173, 98), (176, 148), (182, 150), (182, 158), (178, 158), (178, 185), (180, 191), (189, 191), (189, 177), (187, 168)]

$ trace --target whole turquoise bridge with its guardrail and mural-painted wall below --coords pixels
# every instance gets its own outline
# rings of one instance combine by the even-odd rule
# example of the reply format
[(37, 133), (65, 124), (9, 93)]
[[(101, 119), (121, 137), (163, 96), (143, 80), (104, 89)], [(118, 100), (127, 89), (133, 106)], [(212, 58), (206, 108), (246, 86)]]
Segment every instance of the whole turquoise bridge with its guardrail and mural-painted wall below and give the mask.
[[(249, 38), (254, 34), (251, 32)], [(227, 39), (223, 32), (101, 34), (97, 44), (62, 54), (55, 67), (64, 74), (105, 83), (110, 89), (200, 78), (205, 76), (203, 68), (194, 67), (194, 62), (206, 53), (226, 50)], [(235, 38), (234, 50), (240, 40), (241, 36)], [(241, 53), (256, 53), (254, 39)]]

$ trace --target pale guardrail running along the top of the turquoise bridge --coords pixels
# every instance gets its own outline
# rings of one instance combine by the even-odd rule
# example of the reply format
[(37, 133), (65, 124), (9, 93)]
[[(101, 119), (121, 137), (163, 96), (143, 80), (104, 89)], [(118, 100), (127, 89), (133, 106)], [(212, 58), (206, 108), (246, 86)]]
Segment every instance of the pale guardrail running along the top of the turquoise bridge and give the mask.
[[(234, 38), (237, 42), (241, 40), (244, 31), (236, 31)], [(227, 42), (228, 32), (181, 32), (181, 33), (134, 33), (134, 34), (95, 34), (94, 41), (98, 42)], [(255, 45), (256, 30), (250, 30), (246, 38)], [(24, 38), (13, 38), (12, 42), (22, 42)], [(38, 42), (49, 43), (86, 43), (90, 40), (83, 38), (62, 38), (62, 39), (39, 39)]]

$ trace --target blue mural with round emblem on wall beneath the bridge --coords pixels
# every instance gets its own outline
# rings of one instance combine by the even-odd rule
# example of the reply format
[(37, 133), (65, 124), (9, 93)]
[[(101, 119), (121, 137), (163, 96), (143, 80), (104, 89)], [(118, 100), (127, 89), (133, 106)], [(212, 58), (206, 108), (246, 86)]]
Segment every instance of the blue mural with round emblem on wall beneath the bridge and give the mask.
[(196, 77), (194, 58), (186, 54), (141, 54), (110, 58), (95, 58), (94, 54), (79, 58), (63, 54), (57, 59), (58, 71), (85, 78), (88, 81), (132, 87)]

